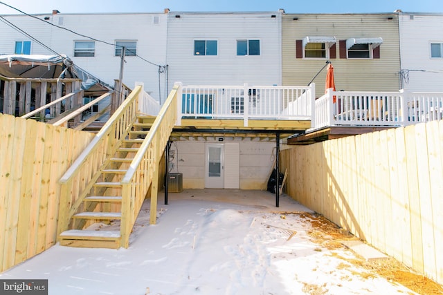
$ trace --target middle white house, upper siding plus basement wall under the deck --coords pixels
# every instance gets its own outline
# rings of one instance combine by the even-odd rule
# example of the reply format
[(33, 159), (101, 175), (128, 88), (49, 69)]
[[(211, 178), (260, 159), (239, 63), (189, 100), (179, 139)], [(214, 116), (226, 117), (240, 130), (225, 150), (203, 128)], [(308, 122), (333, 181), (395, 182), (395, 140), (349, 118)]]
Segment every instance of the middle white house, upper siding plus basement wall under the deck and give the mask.
[[(170, 12), (170, 82), (281, 85), (281, 19), (282, 11)], [(241, 137), (179, 140), (172, 146), (175, 164), (171, 172), (183, 173), (186, 189), (265, 189), (274, 147), (275, 141)], [(214, 160), (221, 165), (217, 178), (211, 177)]]

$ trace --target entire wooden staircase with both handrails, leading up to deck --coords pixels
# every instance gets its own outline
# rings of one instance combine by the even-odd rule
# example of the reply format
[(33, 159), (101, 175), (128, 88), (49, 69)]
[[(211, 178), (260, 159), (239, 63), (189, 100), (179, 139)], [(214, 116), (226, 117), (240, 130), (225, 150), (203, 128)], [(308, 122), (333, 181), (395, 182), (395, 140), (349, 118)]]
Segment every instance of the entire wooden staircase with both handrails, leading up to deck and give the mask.
[(136, 86), (60, 178), (60, 245), (129, 247), (147, 196), (150, 224), (156, 223), (159, 165), (177, 122), (180, 87), (153, 117), (141, 115), (145, 96)]

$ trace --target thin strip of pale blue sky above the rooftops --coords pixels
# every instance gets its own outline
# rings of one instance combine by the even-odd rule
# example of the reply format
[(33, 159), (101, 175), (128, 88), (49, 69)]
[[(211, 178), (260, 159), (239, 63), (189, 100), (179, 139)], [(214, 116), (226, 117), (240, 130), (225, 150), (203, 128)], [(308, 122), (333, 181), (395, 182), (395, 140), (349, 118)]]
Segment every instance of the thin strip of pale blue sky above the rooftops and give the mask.
[(247, 12), (276, 11), (287, 13), (358, 13), (358, 12), (438, 12), (443, 13), (443, 0), (6, 0), (0, 2), (0, 14), (19, 14), (3, 3), (30, 14), (87, 12)]

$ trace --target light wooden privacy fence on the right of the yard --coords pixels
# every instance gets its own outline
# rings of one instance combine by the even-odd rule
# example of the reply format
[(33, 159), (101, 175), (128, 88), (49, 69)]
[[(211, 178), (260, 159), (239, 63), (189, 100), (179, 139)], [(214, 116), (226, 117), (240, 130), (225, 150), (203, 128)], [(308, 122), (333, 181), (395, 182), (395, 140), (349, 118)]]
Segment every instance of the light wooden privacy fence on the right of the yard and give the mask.
[(281, 152), (292, 198), (443, 283), (443, 121)]

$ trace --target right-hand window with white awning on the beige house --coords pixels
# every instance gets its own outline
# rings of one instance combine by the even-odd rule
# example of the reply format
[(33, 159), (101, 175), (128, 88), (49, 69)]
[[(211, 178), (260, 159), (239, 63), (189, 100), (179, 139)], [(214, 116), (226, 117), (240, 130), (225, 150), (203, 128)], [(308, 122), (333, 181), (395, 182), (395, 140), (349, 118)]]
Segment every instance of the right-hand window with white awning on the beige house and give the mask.
[(350, 38), (345, 41), (347, 59), (380, 58), (379, 46), (383, 39), (377, 38)]

